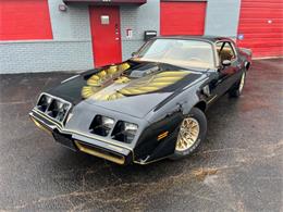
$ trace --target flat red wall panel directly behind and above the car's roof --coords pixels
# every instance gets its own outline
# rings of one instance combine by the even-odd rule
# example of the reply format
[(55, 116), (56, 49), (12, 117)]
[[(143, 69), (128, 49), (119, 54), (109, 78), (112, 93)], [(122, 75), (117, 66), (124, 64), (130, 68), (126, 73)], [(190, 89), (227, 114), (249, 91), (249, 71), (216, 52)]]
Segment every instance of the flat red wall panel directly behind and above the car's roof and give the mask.
[(206, 2), (168, 2), (160, 5), (161, 35), (204, 35)]

